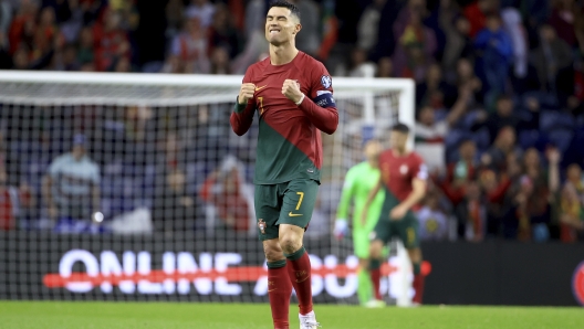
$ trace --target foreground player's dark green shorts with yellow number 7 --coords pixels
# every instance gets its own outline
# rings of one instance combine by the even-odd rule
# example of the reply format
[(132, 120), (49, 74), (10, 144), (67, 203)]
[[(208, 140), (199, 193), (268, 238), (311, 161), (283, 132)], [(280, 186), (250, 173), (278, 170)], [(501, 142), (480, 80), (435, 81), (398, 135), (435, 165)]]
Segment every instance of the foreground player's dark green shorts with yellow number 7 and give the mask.
[(293, 180), (255, 185), (255, 219), (261, 241), (278, 238), (280, 224), (309, 226), (319, 193), (319, 182)]

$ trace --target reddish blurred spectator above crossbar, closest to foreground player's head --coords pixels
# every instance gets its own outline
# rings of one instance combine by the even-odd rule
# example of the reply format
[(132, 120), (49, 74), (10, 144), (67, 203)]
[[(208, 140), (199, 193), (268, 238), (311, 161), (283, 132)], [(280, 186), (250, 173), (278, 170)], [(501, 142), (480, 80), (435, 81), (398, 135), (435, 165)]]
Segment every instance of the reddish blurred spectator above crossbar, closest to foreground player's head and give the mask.
[(198, 18), (186, 22), (184, 31), (173, 41), (171, 54), (181, 62), (185, 73), (209, 73), (208, 41)]

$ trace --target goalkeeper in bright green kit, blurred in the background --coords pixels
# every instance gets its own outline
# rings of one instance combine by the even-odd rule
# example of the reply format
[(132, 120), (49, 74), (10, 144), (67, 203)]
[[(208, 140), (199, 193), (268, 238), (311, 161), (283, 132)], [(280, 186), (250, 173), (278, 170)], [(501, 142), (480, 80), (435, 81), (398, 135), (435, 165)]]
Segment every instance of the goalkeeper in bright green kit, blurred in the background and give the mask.
[(366, 161), (361, 162), (348, 170), (343, 185), (341, 202), (336, 212), (334, 227), (334, 234), (338, 240), (346, 235), (348, 230), (348, 209), (353, 201), (353, 246), (355, 255), (359, 259), (357, 296), (363, 306), (369, 306), (371, 301), (380, 300), (380, 296), (375, 296), (378, 297), (375, 299), (373, 298), (374, 291), (376, 295), (379, 295), (379, 287), (373, 287), (367, 266), (371, 266), (368, 265), (369, 235), (379, 219), (385, 193), (379, 191), (369, 205), (365, 225), (361, 222), (361, 213), (363, 206), (365, 206), (365, 203), (367, 202), (367, 197), (369, 195), (371, 190), (373, 190), (375, 184), (379, 181), (380, 172), (377, 166), (377, 157), (382, 150), (383, 147), (377, 140), (372, 139), (367, 141), (365, 144)]

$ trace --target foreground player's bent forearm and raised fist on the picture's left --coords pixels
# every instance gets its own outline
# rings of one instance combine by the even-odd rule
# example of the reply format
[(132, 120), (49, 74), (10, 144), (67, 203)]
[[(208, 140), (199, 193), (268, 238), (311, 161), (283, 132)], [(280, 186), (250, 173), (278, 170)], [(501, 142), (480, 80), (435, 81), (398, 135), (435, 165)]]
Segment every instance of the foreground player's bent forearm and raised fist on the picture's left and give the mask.
[(255, 112), (255, 102), (253, 94), (255, 93), (255, 85), (249, 82), (248, 73), (243, 77), (243, 84), (239, 89), (239, 95), (236, 102), (236, 108), (231, 113), (231, 129), (238, 136), (248, 132), (253, 121), (253, 113)]

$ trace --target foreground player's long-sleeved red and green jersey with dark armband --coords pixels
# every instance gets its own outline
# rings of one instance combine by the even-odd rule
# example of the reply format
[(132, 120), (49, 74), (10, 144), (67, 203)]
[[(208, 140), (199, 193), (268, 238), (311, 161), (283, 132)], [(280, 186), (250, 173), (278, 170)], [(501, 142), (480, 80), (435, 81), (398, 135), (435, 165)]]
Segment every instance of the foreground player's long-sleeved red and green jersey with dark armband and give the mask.
[[(305, 95), (300, 105), (282, 94), (285, 79), (300, 84)], [(333, 134), (338, 125), (332, 79), (324, 65), (303, 52), (284, 65), (272, 65), (268, 57), (248, 68), (243, 83), (254, 84), (255, 93), (246, 109), (231, 114), (231, 126), (238, 135), (243, 135), (254, 113), (258, 115), (254, 183), (320, 181), (321, 131)]]

